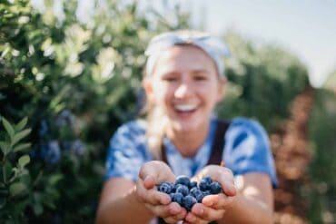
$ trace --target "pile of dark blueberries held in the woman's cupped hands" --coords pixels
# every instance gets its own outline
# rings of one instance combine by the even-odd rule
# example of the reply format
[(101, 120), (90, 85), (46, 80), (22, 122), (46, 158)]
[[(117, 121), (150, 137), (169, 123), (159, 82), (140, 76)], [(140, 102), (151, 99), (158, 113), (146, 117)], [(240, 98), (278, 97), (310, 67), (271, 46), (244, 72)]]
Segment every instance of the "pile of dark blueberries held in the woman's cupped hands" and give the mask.
[(222, 186), (211, 177), (203, 177), (199, 182), (191, 181), (186, 176), (179, 176), (175, 183), (162, 182), (158, 190), (169, 194), (172, 201), (190, 211), (197, 202), (202, 203), (205, 196), (222, 192)]

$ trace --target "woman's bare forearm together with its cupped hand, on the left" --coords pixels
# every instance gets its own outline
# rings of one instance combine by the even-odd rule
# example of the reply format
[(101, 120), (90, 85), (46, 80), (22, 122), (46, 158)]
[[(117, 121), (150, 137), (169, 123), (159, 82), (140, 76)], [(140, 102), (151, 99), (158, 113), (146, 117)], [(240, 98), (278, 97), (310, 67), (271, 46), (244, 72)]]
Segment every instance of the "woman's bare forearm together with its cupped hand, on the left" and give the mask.
[[(97, 211), (97, 223), (148, 223), (162, 217), (176, 223), (185, 217), (186, 210), (169, 195), (156, 190), (155, 185), (175, 180), (172, 170), (163, 161), (143, 164), (134, 184), (124, 178), (113, 178), (104, 184)], [(136, 221), (135, 221), (136, 219)]]

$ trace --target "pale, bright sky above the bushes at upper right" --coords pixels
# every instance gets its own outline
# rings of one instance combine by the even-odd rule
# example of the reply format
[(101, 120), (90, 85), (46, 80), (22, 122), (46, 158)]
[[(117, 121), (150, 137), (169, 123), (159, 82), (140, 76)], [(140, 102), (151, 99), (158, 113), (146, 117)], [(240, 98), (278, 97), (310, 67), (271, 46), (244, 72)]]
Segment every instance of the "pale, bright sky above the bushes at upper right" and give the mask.
[(307, 65), (315, 87), (336, 70), (335, 0), (151, 0), (147, 4), (163, 10), (179, 4), (192, 13), (195, 27), (204, 24), (212, 34), (233, 29), (252, 40), (281, 45)]

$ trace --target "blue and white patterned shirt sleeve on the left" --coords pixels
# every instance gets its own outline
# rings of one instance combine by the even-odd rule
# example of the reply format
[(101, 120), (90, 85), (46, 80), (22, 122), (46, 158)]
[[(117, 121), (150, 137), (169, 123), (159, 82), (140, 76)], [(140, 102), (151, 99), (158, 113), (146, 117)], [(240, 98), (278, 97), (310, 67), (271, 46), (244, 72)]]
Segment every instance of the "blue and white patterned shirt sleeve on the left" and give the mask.
[(135, 181), (145, 161), (148, 161), (148, 153), (144, 130), (136, 122), (128, 122), (115, 131), (110, 141), (104, 179), (123, 177)]

